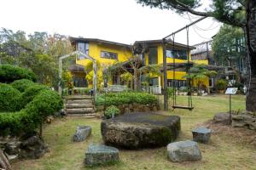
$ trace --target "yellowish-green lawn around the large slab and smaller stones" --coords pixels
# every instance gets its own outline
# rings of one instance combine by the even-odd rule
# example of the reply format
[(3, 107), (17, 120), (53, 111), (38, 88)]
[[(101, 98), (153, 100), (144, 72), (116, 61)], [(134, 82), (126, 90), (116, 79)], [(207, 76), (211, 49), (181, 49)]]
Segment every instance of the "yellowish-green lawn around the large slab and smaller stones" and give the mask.
[[(179, 105), (185, 105), (187, 98), (178, 96)], [(212, 119), (221, 111), (229, 111), (229, 98), (224, 95), (193, 97), (193, 111), (175, 110), (167, 115), (181, 116), (181, 132), (177, 140), (192, 138), (191, 129), (201, 122)], [(245, 109), (245, 97), (232, 98), (233, 110)], [(102, 143), (100, 119), (65, 118), (56, 120), (44, 128), (44, 140), (49, 144), (50, 152), (38, 160), (19, 161), (15, 169), (256, 169), (255, 147), (238, 142), (236, 139), (222, 133), (212, 134), (209, 144), (200, 144), (202, 160), (195, 162), (173, 163), (168, 161), (166, 147), (147, 150), (120, 150), (120, 161), (106, 167), (84, 167), (84, 152), (90, 143)], [(92, 135), (81, 143), (73, 143), (72, 136), (77, 125), (90, 125)]]

